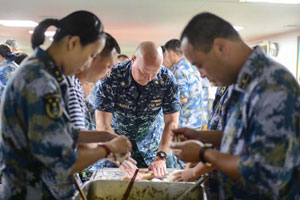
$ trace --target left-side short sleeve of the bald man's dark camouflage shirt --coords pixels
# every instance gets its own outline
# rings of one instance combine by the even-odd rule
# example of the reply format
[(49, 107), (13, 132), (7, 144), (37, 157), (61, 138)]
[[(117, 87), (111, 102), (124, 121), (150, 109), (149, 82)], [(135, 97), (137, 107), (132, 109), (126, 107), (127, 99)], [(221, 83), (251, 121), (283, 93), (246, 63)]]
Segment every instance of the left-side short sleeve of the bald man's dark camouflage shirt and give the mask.
[(117, 84), (112, 76), (98, 81), (92, 92), (90, 104), (96, 110), (112, 113), (115, 106), (116, 89)]

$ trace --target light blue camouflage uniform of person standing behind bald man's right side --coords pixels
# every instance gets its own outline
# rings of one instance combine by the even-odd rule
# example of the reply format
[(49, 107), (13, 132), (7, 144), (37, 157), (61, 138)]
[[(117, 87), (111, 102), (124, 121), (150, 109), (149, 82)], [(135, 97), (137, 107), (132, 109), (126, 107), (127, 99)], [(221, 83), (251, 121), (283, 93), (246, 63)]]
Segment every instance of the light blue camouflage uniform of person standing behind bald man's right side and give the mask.
[(186, 58), (182, 58), (175, 67), (174, 75), (180, 98), (187, 99), (180, 110), (179, 127), (204, 128), (202, 118), (206, 112), (201, 109), (203, 91), (199, 71)]

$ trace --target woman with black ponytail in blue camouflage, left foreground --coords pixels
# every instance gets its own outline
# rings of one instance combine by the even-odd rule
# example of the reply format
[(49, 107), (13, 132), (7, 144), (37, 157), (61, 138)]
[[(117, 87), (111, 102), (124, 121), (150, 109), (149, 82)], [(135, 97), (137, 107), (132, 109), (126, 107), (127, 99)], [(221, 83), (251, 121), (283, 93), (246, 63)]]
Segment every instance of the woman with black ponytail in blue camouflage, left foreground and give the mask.
[[(55, 26), (47, 50), (45, 31)], [(16, 70), (1, 103), (0, 199), (72, 199), (72, 174), (110, 153), (127, 154), (129, 140), (116, 137), (90, 149), (78, 149), (79, 131), (70, 123), (66, 75), (89, 67), (105, 43), (97, 16), (77, 11), (35, 28), (34, 54)]]

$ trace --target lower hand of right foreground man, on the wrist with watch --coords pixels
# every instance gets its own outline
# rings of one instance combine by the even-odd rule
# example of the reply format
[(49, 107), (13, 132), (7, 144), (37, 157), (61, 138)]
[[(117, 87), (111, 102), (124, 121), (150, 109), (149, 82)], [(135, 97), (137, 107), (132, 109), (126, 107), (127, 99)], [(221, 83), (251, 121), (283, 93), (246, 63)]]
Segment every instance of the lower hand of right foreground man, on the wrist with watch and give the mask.
[(203, 143), (197, 140), (187, 140), (171, 145), (174, 155), (184, 162), (199, 162), (201, 147)]

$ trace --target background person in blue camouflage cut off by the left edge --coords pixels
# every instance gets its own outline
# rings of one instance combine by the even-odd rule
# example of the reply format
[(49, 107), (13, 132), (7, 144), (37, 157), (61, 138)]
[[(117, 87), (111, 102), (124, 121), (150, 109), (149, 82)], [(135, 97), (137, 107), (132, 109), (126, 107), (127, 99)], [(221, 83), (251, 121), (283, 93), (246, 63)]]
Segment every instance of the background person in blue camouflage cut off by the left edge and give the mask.
[(8, 79), (18, 68), (14, 62), (16, 58), (7, 44), (0, 44), (0, 98), (5, 89)]

